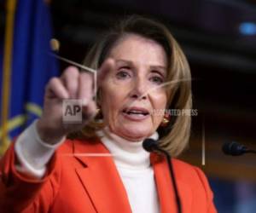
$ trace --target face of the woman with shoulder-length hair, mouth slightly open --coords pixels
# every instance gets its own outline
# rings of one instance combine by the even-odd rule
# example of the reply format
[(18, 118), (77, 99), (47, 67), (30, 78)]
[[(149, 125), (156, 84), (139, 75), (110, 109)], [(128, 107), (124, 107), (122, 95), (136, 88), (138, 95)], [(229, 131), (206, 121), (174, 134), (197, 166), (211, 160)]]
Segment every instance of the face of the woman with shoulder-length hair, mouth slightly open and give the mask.
[(159, 127), (166, 108), (166, 53), (160, 44), (128, 35), (111, 49), (115, 61), (102, 82), (101, 107), (105, 124), (116, 135), (141, 141)]

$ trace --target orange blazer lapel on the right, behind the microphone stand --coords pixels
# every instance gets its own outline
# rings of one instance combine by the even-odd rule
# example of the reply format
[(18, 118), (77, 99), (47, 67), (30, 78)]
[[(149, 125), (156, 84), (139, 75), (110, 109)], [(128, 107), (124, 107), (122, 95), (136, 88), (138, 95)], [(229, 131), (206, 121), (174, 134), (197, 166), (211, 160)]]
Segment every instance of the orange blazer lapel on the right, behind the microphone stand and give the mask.
[[(169, 172), (166, 159), (158, 156), (157, 154), (151, 154), (151, 164), (154, 168), (154, 177), (156, 181), (156, 187), (160, 199), (160, 212), (161, 213), (176, 213), (177, 204), (175, 200), (174, 188), (172, 185), (172, 178)], [(177, 190), (181, 199), (183, 212), (191, 212), (192, 204), (192, 192), (191, 187), (180, 180), (180, 174), (177, 174), (177, 166), (175, 166), (175, 159), (172, 159), (174, 173), (177, 181)]]

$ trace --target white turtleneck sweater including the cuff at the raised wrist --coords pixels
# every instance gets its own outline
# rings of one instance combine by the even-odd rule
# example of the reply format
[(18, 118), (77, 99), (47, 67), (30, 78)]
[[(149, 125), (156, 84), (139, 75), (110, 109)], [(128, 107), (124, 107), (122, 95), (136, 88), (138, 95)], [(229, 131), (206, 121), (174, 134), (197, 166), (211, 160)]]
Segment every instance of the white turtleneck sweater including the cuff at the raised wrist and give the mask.
[[(98, 131), (97, 135), (113, 154), (113, 161), (125, 186), (132, 212), (160, 212), (154, 171), (150, 166), (149, 153), (143, 149), (143, 141), (127, 141), (111, 133), (108, 128)], [(155, 132), (150, 137), (157, 140), (158, 134)], [(41, 141), (36, 123), (33, 123), (15, 143), (15, 153), (21, 165), (16, 165), (17, 170), (42, 178), (46, 164), (62, 141), (64, 140), (54, 146)]]

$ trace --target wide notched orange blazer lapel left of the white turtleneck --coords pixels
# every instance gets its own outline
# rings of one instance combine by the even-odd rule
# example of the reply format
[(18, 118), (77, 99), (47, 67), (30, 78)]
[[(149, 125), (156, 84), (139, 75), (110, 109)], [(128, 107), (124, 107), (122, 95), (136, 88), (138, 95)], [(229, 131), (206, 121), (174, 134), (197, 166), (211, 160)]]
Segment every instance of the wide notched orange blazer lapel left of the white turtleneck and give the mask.
[(113, 158), (102, 142), (75, 141), (73, 150), (75, 154), (79, 154), (75, 155), (75, 158), (86, 165), (76, 172), (96, 212), (131, 213), (125, 187)]

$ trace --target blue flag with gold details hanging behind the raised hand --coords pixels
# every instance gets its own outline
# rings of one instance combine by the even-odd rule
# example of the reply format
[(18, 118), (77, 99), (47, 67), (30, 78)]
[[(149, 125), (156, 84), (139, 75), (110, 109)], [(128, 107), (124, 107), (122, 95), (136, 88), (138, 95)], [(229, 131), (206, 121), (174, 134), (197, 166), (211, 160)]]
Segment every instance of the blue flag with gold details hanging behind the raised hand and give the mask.
[[(49, 7), (44, 0), (17, 1), (9, 83), (9, 139), (19, 135), (41, 115), (45, 85), (59, 73), (57, 61), (50, 55), (51, 38)], [(3, 93), (4, 44), (1, 42), (0, 88)], [(0, 101), (2, 112), (3, 95)], [(0, 139), (2, 131), (1, 125)]]

